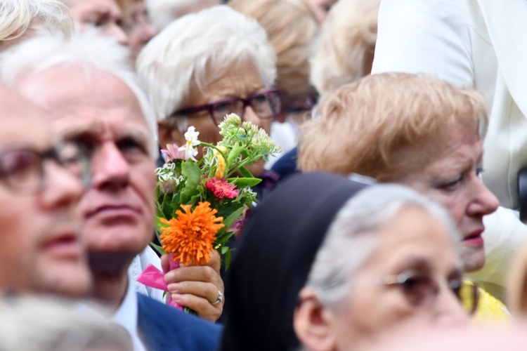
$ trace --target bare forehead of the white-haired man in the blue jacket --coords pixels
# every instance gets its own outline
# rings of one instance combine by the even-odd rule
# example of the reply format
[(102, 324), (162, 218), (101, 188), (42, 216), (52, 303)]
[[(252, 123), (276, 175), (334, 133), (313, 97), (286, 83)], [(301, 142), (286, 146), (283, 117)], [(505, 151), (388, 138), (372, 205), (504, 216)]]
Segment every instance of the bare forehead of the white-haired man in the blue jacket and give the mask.
[(15, 86), (44, 110), (63, 138), (90, 134), (110, 140), (124, 135), (153, 144), (136, 95), (108, 72), (79, 65), (51, 67), (20, 77)]

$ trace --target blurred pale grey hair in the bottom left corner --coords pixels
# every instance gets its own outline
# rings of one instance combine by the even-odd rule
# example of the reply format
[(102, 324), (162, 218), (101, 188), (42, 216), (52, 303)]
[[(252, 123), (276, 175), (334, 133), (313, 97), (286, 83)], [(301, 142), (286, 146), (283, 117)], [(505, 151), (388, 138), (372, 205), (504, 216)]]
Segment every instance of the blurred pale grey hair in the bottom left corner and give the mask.
[(103, 314), (51, 296), (0, 296), (0, 350), (133, 350)]

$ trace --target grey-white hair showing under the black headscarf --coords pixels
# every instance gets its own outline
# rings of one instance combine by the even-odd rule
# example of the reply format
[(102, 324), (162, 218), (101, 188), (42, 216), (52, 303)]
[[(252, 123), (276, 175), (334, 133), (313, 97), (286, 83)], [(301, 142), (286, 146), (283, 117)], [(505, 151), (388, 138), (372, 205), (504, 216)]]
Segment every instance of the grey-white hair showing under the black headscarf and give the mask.
[(408, 206), (421, 208), (437, 218), (458, 248), (460, 234), (443, 206), (403, 185), (374, 185), (349, 199), (327, 230), (306, 283), (320, 303), (335, 305), (347, 296), (351, 277), (377, 246), (377, 229)]

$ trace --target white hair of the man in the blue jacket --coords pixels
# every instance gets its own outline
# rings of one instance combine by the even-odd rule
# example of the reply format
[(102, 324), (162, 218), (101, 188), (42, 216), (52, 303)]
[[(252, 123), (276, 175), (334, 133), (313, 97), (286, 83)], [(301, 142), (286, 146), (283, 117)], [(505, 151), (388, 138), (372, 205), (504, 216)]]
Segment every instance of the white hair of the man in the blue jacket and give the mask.
[(23, 41), (0, 55), (0, 80), (12, 86), (24, 74), (51, 67), (82, 65), (89, 74), (92, 69), (108, 72), (121, 80), (136, 95), (152, 134), (150, 154), (157, 156), (157, 125), (148, 98), (139, 86), (129, 62), (129, 51), (111, 37), (95, 31), (75, 33), (71, 38), (43, 35)]

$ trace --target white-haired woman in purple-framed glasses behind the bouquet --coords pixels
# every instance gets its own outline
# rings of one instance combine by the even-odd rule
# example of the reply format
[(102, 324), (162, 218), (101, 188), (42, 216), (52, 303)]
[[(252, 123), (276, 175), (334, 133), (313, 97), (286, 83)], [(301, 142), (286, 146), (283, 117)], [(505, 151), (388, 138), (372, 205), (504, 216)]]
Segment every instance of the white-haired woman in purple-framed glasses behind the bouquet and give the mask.
[[(157, 117), (160, 145), (183, 145), (188, 126), (200, 140), (220, 140), (235, 113), (269, 133), (280, 112), (273, 88), (276, 54), (253, 18), (214, 6), (172, 22), (138, 56), (136, 68)], [(254, 176), (263, 161), (248, 167)]]

